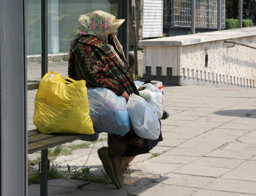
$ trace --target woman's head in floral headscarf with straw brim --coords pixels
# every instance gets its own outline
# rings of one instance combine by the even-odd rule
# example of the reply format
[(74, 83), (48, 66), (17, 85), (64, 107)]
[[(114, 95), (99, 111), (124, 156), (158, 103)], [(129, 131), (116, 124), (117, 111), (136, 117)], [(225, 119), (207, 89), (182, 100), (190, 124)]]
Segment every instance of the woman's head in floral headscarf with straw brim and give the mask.
[(116, 20), (115, 16), (101, 10), (81, 15), (76, 22), (70, 48), (73, 48), (76, 39), (82, 35), (94, 35), (107, 43), (108, 34), (113, 33), (123, 22), (124, 19)]

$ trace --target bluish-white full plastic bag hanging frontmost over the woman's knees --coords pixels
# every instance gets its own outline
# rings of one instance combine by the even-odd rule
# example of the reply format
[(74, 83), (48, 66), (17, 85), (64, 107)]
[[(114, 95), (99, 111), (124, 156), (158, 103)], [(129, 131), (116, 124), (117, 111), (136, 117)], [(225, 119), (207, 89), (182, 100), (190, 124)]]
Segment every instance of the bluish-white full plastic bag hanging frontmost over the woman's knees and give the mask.
[(132, 94), (127, 103), (127, 111), (134, 132), (141, 138), (157, 139), (160, 123), (155, 108), (144, 98)]

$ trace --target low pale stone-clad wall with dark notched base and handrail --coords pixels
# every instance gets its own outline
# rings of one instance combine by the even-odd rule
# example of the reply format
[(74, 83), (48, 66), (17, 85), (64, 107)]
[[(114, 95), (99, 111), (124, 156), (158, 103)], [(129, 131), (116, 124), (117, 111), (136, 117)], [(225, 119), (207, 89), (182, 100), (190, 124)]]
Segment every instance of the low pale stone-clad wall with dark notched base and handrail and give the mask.
[(143, 40), (144, 69), (164, 84), (255, 87), (256, 27)]

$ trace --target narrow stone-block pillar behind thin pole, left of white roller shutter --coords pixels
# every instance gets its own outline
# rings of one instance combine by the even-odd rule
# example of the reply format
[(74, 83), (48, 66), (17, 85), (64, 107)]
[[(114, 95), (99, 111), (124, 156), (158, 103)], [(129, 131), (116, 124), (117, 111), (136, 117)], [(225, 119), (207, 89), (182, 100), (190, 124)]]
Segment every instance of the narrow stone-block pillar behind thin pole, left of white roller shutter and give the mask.
[[(143, 0), (136, 0), (136, 29), (137, 29), (137, 42), (142, 40), (142, 26), (143, 26)], [(133, 47), (133, 28), (132, 28), (132, 2), (130, 0), (129, 7), (129, 46)]]

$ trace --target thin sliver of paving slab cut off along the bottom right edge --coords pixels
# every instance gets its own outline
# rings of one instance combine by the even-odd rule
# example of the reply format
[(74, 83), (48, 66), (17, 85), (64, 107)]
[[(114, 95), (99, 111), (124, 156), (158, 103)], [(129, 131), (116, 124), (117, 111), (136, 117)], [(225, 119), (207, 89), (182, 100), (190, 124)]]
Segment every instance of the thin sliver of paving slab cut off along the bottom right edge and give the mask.
[(193, 196), (252, 196), (253, 194), (244, 194), (244, 193), (237, 193), (237, 192), (226, 192), (226, 191), (213, 191), (213, 190), (205, 190), (200, 189), (197, 192), (192, 194)]

